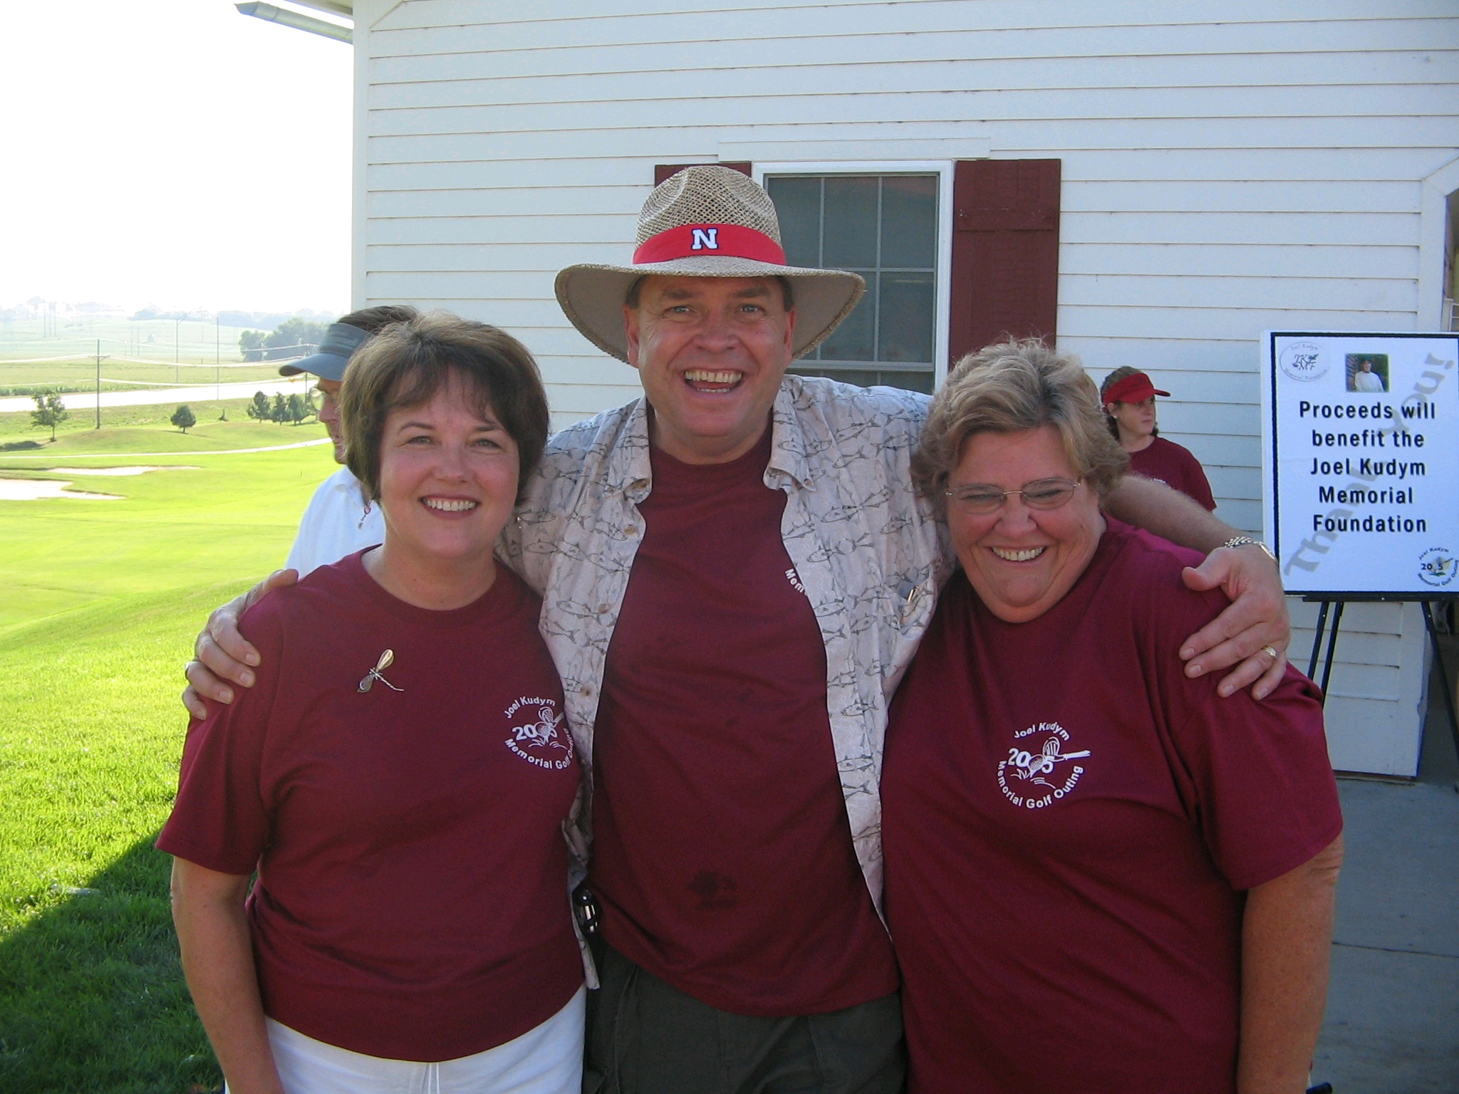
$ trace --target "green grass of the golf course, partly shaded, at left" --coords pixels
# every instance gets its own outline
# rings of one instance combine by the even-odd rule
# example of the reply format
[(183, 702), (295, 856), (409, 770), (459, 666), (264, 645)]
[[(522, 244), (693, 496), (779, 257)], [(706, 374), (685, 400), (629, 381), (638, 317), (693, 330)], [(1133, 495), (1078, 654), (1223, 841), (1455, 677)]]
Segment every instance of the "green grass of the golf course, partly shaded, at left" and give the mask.
[(212, 422), (185, 438), (137, 424), (63, 433), (44, 459), (0, 451), (6, 477), (44, 477), (53, 457), (95, 467), (204, 452), (143, 461), (190, 470), (61, 476), (123, 500), (0, 500), (3, 1091), (220, 1082), (177, 961), (169, 864), (152, 840), (177, 785), (193, 635), (282, 562), (334, 467), (327, 445), (213, 452), (317, 436), (312, 424)]

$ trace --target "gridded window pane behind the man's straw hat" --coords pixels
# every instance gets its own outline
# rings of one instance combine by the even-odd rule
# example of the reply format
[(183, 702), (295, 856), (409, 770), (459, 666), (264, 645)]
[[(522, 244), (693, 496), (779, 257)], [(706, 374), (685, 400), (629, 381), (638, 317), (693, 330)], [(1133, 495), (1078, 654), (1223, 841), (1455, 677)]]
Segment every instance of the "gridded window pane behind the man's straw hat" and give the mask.
[(937, 349), (938, 175), (767, 175), (791, 265), (852, 270), (867, 295), (802, 376), (932, 391)]

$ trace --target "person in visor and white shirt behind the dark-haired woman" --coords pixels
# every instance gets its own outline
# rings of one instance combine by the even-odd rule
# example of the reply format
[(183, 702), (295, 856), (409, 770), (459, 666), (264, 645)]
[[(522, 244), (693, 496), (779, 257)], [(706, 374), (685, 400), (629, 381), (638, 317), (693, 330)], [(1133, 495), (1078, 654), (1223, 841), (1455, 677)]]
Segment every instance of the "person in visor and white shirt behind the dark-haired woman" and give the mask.
[(344, 381), (344, 366), (350, 356), (392, 322), (410, 322), (416, 309), (404, 303), (387, 303), (378, 308), (363, 308), (340, 317), (324, 333), (320, 349), (299, 360), (279, 366), (280, 376), (298, 376), (311, 372), (318, 378), (314, 385), (320, 392), (320, 422), (330, 430), (334, 442), (334, 462), (340, 470), (320, 483), (309, 499), (309, 506), (299, 521), (299, 532), (289, 548), (285, 569), (305, 576), (320, 566), (338, 562), (346, 554), (374, 547), (385, 538), (385, 521), (379, 506), (372, 506), (365, 497), (360, 481), (344, 467), (344, 433), (340, 430), (340, 406), (337, 397)]

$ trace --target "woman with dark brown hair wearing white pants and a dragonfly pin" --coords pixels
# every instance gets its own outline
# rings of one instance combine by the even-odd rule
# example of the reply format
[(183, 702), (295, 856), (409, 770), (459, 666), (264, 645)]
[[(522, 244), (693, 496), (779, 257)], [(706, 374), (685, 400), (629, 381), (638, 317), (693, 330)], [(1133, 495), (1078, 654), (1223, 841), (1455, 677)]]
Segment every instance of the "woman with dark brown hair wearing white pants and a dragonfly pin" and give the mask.
[(249, 608), (258, 680), (193, 723), (158, 840), (188, 986), (233, 1094), (575, 1093), (578, 763), (540, 601), (493, 559), (537, 366), (427, 315), (356, 353), (340, 413), (384, 543)]

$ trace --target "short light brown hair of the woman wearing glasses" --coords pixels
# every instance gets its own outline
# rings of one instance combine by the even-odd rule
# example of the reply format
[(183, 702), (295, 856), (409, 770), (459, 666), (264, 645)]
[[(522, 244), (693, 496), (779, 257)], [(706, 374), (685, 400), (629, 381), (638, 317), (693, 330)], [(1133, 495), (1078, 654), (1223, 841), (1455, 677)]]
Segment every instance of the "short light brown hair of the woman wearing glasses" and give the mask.
[(947, 478), (970, 436), (1052, 424), (1074, 474), (1107, 497), (1129, 457), (1106, 432), (1103, 417), (1094, 381), (1072, 353), (1058, 353), (1039, 338), (994, 343), (957, 362), (932, 400), (912, 458), (912, 481), (941, 511)]

